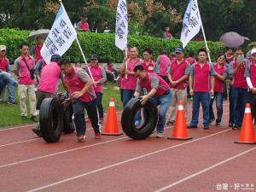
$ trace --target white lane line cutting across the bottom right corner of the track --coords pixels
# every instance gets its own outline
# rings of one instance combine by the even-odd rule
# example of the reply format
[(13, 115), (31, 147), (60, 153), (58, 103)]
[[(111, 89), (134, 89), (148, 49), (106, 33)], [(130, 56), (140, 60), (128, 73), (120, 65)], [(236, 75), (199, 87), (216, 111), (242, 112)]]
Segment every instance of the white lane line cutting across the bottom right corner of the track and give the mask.
[(232, 156), (232, 157), (230, 157), (229, 159), (220, 161), (219, 163), (217, 163), (217, 164), (215, 164), (215, 165), (213, 165), (213, 166), (209, 166), (209, 167), (207, 167), (206, 169), (201, 170), (200, 172), (195, 172), (194, 174), (190, 175), (189, 177), (184, 177), (183, 179), (180, 179), (180, 180), (178, 180), (178, 181), (175, 182), (175, 183), (171, 183), (171, 184), (167, 185), (166, 187), (163, 187), (163, 188), (161, 188), (161, 189), (158, 189), (158, 190), (156, 190), (155, 192), (160, 192), (160, 191), (163, 191), (163, 190), (166, 190), (166, 189), (170, 189), (170, 188), (172, 188), (173, 186), (175, 186), (175, 185), (177, 185), (177, 184), (179, 184), (179, 183), (183, 183), (183, 182), (189, 180), (190, 178), (196, 177), (196, 176), (200, 175), (201, 173), (207, 172), (207, 171), (209, 171), (209, 170), (211, 170), (211, 169), (213, 169), (213, 168), (215, 168), (215, 167), (217, 167), (217, 166), (221, 166), (222, 164), (224, 164), (224, 163), (226, 163), (226, 162), (228, 162), (228, 161), (230, 161), (230, 160), (234, 160), (234, 159), (236, 159), (237, 157), (240, 157), (240, 156), (243, 155), (243, 154), (247, 154), (247, 153), (249, 153), (249, 152), (251, 152), (251, 151), (253, 151), (253, 150), (255, 150), (255, 149), (256, 149), (256, 147), (250, 148), (250, 149), (248, 149), (247, 151), (244, 151), (244, 152), (242, 152), (242, 153), (240, 153), (240, 154), (236, 154), (235, 156)]

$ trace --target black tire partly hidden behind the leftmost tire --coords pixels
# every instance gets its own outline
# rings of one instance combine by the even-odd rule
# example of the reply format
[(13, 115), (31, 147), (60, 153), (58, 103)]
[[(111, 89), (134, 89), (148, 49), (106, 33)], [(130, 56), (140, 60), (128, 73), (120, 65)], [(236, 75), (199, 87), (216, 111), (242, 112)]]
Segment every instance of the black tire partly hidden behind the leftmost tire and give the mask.
[(72, 103), (69, 104), (69, 106), (63, 106), (63, 132), (64, 133), (73, 133), (75, 131), (74, 123), (73, 123), (73, 106)]

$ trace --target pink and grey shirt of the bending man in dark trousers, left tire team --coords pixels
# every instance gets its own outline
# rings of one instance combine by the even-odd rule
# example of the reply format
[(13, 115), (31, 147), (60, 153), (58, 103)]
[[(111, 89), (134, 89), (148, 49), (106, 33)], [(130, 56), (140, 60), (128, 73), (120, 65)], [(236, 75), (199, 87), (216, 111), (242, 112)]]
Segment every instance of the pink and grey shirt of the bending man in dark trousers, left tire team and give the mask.
[[(79, 73), (79, 71), (81, 70), (83, 69), (79, 67), (76, 67), (76, 68), (72, 67), (71, 77), (67, 77), (67, 76), (64, 77), (65, 82), (67, 82), (67, 84), (70, 87), (71, 93), (75, 91), (83, 90), (84, 88), (84, 82), (81, 79), (79, 79), (77, 75), (77, 73)], [(86, 81), (87, 79), (90, 79), (89, 75), (85, 71), (83, 72), (83, 76), (84, 76), (84, 81)], [(90, 89), (86, 91), (83, 96), (79, 97), (79, 100), (81, 100), (82, 102), (90, 102), (96, 99), (96, 94), (93, 87), (94, 86), (91, 85)]]

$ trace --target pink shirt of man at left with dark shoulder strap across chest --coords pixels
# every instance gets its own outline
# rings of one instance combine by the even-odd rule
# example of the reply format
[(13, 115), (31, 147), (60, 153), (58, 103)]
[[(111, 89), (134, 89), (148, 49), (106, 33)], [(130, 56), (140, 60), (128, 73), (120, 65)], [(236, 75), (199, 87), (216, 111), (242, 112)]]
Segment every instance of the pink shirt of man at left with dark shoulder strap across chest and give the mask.
[(15, 70), (19, 71), (20, 76), (19, 84), (34, 84), (35, 82), (33, 79), (31, 79), (31, 75), (26, 67), (26, 64), (29, 69), (33, 69), (35, 67), (35, 62), (30, 55), (28, 55), (26, 63), (23, 61), (23, 59), (25, 59), (23, 55), (20, 55), (20, 57), (15, 60)]

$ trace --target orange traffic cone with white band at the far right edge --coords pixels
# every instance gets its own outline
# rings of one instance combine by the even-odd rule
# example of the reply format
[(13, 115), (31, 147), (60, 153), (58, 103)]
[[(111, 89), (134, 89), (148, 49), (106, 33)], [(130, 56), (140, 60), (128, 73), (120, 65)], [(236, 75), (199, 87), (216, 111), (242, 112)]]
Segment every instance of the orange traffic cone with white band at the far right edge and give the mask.
[(256, 144), (250, 103), (247, 103), (243, 115), (239, 141), (235, 143)]

